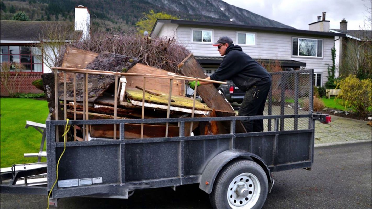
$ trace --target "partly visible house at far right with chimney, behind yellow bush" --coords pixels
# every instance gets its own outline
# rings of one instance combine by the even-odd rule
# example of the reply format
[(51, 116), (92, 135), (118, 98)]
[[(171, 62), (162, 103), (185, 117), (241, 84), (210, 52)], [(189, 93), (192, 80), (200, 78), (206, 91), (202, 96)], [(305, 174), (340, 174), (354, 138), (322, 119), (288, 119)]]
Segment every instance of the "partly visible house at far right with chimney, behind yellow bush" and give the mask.
[(368, 66), (368, 59), (365, 55), (371, 55), (372, 30), (348, 30), (345, 19), (340, 22), (340, 29), (330, 29), (336, 34), (346, 34), (346, 36), (335, 37), (336, 66), (339, 74), (347, 75), (356, 73), (359, 69), (371, 70)]

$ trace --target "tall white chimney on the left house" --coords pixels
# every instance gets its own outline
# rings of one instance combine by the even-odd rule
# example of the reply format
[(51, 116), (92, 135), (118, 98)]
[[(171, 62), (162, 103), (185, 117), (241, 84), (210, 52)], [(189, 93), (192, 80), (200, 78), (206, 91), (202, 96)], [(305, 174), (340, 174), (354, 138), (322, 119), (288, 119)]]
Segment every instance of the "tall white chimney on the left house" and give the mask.
[(81, 40), (89, 39), (90, 34), (90, 14), (87, 7), (75, 7), (75, 31), (81, 31)]

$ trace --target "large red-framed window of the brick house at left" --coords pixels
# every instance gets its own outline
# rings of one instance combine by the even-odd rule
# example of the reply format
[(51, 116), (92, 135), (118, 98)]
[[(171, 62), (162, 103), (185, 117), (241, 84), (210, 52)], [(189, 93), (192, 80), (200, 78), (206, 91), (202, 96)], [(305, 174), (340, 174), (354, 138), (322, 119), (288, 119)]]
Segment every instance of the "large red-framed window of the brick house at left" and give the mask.
[(42, 54), (39, 47), (1, 46), (0, 61), (1, 63), (20, 63), (25, 66), (26, 72), (43, 72)]

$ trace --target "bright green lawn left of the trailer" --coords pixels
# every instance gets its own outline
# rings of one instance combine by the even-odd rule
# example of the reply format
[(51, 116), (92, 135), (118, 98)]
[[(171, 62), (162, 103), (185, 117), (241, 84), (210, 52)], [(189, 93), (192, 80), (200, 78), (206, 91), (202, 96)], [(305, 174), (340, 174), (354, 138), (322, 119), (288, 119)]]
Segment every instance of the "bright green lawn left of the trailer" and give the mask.
[(25, 158), (23, 153), (39, 152), (41, 134), (35, 128), (26, 129), (25, 125), (26, 120), (45, 123), (48, 116), (47, 101), (0, 98), (0, 114), (0, 166), (36, 163), (37, 157)]

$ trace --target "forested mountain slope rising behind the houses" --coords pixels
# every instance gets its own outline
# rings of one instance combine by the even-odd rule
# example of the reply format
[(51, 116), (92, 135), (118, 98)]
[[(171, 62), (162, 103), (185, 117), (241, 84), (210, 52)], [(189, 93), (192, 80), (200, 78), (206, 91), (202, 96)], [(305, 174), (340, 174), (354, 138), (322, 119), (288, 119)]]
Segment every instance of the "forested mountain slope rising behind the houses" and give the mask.
[(293, 28), (222, 0), (2, 0), (0, 19), (10, 20), (19, 11), (30, 20), (73, 21), (74, 8), (86, 6), (94, 25), (128, 30), (151, 9), (180, 19), (218, 23)]

